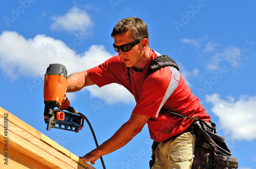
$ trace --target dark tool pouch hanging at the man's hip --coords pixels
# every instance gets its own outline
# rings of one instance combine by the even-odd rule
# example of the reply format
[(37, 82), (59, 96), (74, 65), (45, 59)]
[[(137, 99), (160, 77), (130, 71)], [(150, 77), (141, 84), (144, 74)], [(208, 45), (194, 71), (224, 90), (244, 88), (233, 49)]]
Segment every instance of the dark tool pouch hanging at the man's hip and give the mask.
[(215, 126), (212, 122), (198, 120), (188, 128), (197, 135), (192, 168), (238, 168), (238, 158), (231, 157), (225, 138), (217, 134)]

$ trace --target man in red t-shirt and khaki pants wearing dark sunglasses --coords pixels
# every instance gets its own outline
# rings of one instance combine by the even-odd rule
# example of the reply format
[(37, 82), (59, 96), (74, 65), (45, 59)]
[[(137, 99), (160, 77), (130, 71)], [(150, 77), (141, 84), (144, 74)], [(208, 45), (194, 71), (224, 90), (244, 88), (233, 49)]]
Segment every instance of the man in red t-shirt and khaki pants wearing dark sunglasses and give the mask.
[(209, 115), (175, 67), (165, 66), (146, 75), (148, 65), (160, 54), (148, 46), (148, 30), (143, 20), (121, 19), (111, 36), (118, 55), (99, 66), (70, 75), (67, 92), (93, 84), (101, 87), (118, 83), (134, 95), (136, 106), (130, 119), (110, 139), (81, 157), (82, 160), (94, 164), (101, 156), (123, 147), (147, 123), (151, 138), (159, 142), (152, 168), (190, 168), (196, 136), (185, 130), (194, 120), (180, 118), (161, 108), (184, 116), (197, 116), (207, 122)]

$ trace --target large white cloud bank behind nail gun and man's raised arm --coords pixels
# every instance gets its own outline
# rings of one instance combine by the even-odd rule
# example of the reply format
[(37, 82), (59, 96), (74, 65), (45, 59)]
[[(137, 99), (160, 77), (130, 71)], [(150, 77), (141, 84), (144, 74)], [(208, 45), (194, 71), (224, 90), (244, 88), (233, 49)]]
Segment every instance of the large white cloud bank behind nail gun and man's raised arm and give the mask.
[[(18, 77), (40, 77), (44, 79), (46, 69), (51, 63), (66, 66), (68, 75), (77, 71), (97, 66), (113, 55), (103, 45), (92, 45), (87, 51), (76, 54), (68, 45), (60, 40), (45, 35), (36, 35), (25, 39), (16, 32), (5, 31), (0, 35), (0, 68), (6, 76), (13, 80)], [(115, 88), (118, 93), (115, 93)], [(130, 103), (133, 96), (124, 88), (108, 85), (103, 88), (86, 87), (92, 96), (106, 100), (108, 104), (117, 102)], [(113, 99), (108, 98), (112, 94)], [(71, 99), (75, 98), (70, 94)]]

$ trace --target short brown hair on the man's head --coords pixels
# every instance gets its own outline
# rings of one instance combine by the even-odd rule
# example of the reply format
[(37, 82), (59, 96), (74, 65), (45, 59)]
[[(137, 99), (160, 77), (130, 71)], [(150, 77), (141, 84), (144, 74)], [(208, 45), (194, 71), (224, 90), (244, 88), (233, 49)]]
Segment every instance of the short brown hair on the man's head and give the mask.
[(148, 39), (146, 23), (137, 17), (127, 17), (119, 20), (111, 33), (111, 37), (125, 33), (127, 31), (132, 32), (133, 40), (142, 40), (144, 38)]

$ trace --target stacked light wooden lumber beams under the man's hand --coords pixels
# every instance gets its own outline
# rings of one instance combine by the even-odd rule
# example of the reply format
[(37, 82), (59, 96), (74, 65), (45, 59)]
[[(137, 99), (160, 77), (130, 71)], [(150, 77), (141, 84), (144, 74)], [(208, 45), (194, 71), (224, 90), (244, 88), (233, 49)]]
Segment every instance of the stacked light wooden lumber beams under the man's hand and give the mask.
[(0, 107), (0, 168), (94, 168)]

